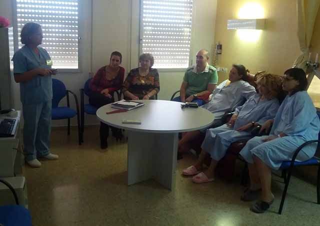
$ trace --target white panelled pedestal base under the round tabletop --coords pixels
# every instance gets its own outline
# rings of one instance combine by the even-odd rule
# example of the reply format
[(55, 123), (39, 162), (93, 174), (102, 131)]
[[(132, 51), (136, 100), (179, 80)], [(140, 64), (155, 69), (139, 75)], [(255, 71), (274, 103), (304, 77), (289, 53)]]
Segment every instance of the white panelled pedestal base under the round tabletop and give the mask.
[(128, 131), (128, 185), (154, 179), (171, 190), (177, 145), (178, 133)]

